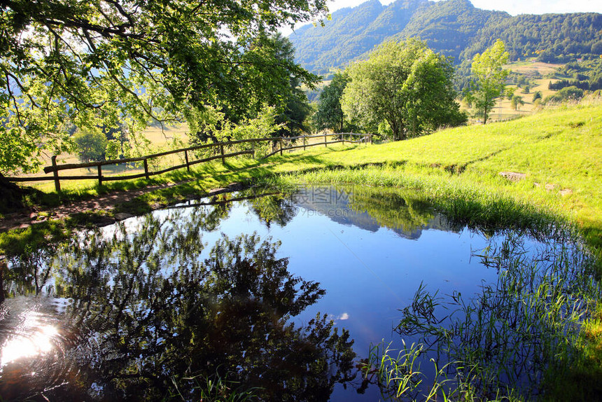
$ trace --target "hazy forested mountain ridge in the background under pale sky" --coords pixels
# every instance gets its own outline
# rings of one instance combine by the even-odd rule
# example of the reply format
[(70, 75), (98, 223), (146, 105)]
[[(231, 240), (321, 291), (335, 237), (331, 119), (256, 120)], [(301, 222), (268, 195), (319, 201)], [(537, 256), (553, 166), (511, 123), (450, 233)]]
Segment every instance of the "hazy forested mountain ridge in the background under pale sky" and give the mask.
[(370, 0), (335, 11), (324, 27), (301, 27), (289, 39), (298, 63), (327, 74), (365, 57), (386, 39), (411, 36), (454, 57), (456, 64), (472, 60), (498, 38), (505, 41), (511, 60), (537, 55), (548, 62), (570, 60), (602, 53), (602, 14), (512, 16), (475, 8), (468, 0), (397, 0), (388, 6)]

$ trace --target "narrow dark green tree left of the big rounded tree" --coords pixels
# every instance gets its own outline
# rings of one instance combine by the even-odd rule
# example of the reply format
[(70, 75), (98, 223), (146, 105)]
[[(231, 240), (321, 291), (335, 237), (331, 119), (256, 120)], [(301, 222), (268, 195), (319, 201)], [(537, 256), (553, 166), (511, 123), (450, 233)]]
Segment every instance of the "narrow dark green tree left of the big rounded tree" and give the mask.
[(348, 82), (349, 75), (344, 71), (337, 71), (330, 84), (322, 90), (318, 110), (314, 115), (318, 130), (330, 128), (334, 132), (343, 132), (344, 113), (341, 106), (341, 97)]

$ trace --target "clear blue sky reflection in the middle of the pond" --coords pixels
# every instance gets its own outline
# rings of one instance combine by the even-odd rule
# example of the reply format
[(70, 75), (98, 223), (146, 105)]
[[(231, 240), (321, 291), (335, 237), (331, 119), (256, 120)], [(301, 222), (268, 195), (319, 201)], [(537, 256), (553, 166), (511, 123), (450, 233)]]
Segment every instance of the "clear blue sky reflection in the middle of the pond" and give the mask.
[(370, 342), (391, 338), (391, 328), (400, 319), (421, 282), (440, 294), (478, 291), (482, 279), (496, 272), (470, 261), (472, 249), (483, 249), (484, 237), (440, 230), (424, 230), (420, 239), (406, 240), (393, 230), (376, 232), (344, 226), (328, 216), (305, 214), (303, 209), (283, 228), (264, 223), (244, 205), (235, 204), (218, 230), (204, 233), (206, 254), (222, 233), (233, 238), (258, 233), (282, 242), (280, 257), (288, 257), (295, 276), (320, 282), (325, 296), (296, 317), (307, 323), (317, 312), (328, 314), (338, 325), (351, 330), (356, 352), (367, 352)]

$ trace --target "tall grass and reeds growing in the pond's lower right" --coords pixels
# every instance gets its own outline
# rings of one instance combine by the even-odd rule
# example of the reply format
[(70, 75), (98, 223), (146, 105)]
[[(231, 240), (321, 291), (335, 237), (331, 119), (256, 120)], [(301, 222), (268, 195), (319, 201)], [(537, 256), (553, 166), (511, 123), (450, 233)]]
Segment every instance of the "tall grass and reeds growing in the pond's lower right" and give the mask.
[[(384, 344), (372, 347), (365, 378), (377, 376), (385, 395), (404, 400), (547, 398), (547, 382), (584, 359), (582, 322), (601, 290), (580, 243), (555, 236), (533, 253), (510, 232), (478, 255), (499, 275), (474, 298), (421, 285), (395, 328), (416, 343), (396, 357)], [(419, 371), (425, 361), (433, 378)]]

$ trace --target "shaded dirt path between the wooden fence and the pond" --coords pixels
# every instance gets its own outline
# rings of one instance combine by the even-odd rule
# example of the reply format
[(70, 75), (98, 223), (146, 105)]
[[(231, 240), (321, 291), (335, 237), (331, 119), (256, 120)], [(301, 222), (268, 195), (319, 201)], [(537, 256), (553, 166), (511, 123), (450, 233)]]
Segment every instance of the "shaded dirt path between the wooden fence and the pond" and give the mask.
[[(111, 211), (116, 205), (122, 204), (133, 200), (139, 195), (150, 193), (151, 191), (158, 190), (160, 188), (167, 188), (175, 186), (174, 183), (160, 184), (158, 186), (148, 186), (140, 188), (139, 190), (124, 190), (124, 191), (113, 191), (99, 197), (92, 198), (90, 200), (76, 201), (69, 204), (60, 205), (55, 208), (48, 209), (24, 209), (20, 212), (14, 212), (13, 214), (6, 214), (3, 219), (0, 219), (0, 232), (17, 228), (27, 228), (36, 223), (41, 223), (47, 219), (65, 219), (72, 214), (78, 212), (90, 212), (90, 211)], [(43, 214), (41, 214), (43, 212)], [(106, 216), (106, 224), (110, 224), (116, 221), (116, 219)], [(105, 222), (103, 222), (105, 223)]]

